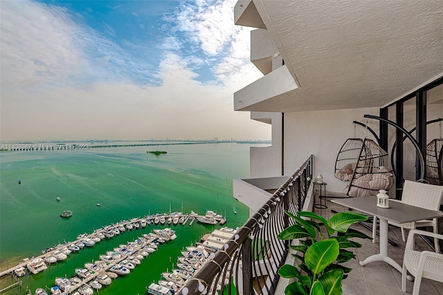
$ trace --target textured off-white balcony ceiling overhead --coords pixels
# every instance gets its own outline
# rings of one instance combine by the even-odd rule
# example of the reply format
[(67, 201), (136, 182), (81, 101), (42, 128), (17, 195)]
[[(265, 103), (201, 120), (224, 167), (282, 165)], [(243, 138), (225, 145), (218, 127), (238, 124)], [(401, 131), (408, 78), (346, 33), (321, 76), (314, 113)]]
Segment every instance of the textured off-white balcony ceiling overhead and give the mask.
[(244, 110), (383, 107), (443, 75), (443, 1), (253, 1), (299, 88)]

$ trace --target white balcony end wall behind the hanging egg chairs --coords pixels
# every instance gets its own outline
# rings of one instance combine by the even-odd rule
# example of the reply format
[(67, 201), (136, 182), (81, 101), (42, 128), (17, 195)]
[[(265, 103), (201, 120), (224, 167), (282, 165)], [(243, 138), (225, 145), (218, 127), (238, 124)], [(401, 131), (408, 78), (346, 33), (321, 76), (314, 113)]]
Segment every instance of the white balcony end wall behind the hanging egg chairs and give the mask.
[[(314, 176), (321, 173), (326, 190), (343, 193), (345, 182), (336, 179), (335, 161), (347, 138), (354, 137), (354, 120), (365, 123), (363, 115), (379, 116), (378, 108), (300, 111), (284, 114), (284, 175), (291, 175), (314, 155)], [(368, 119), (368, 126), (379, 134), (379, 121)], [(356, 137), (364, 138), (365, 128), (357, 125)], [(373, 138), (367, 132), (368, 138)]]

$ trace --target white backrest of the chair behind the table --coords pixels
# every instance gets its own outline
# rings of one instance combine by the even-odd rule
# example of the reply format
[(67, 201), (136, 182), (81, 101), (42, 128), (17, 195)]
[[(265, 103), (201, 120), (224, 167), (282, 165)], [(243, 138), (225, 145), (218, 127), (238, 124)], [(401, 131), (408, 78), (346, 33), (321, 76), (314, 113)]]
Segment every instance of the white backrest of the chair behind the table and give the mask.
[(429, 210), (439, 210), (442, 197), (443, 186), (406, 180), (401, 202)]

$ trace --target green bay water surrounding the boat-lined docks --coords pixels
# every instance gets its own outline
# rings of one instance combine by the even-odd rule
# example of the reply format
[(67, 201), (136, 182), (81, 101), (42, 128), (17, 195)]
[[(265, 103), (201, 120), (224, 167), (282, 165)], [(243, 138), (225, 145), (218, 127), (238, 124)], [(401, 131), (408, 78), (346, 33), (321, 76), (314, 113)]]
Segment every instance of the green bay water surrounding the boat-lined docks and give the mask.
[[(248, 175), (247, 144), (164, 145), (113, 147), (89, 150), (0, 153), (0, 268), (23, 258), (39, 256), (42, 249), (75, 240), (108, 224), (155, 213), (182, 211), (226, 214), (226, 226), (241, 226), (248, 208), (233, 198), (232, 179)], [(156, 156), (147, 150), (165, 150)], [(17, 184), (17, 180), (21, 184)], [(60, 202), (57, 202), (60, 197)], [(101, 206), (96, 206), (100, 203)], [(233, 206), (237, 215), (233, 213)], [(73, 211), (62, 219), (64, 210)], [(225, 213), (226, 212), (226, 213)], [(72, 276), (75, 267), (143, 233), (161, 226), (126, 231), (69, 258), (37, 275), (22, 278), (21, 288), (5, 294), (25, 294), (37, 287), (52, 287), (57, 276)], [(131, 274), (119, 277), (100, 294), (144, 294), (152, 281), (177, 263), (180, 250), (201, 235), (221, 226), (195, 222), (172, 226), (177, 239), (161, 245)], [(14, 283), (0, 280), (0, 289)]]

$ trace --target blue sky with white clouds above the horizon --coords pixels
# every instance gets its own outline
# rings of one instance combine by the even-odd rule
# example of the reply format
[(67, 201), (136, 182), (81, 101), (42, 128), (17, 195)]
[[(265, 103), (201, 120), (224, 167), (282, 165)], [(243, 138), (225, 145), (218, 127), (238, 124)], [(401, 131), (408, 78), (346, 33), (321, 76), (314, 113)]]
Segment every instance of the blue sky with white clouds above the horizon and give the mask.
[(0, 140), (270, 139), (237, 0), (0, 1)]

